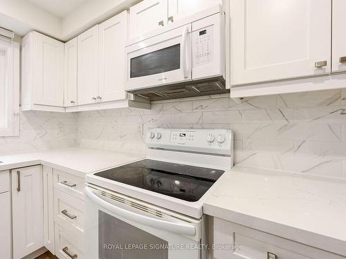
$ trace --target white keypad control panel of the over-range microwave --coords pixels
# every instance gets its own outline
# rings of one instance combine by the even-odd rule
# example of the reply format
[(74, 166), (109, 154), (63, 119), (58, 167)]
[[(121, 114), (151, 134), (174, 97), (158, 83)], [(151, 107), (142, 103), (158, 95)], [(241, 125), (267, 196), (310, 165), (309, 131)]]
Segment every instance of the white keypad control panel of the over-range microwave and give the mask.
[(193, 57), (194, 66), (201, 66), (212, 62), (213, 50), (213, 30), (212, 26), (202, 28), (194, 32), (193, 37)]

